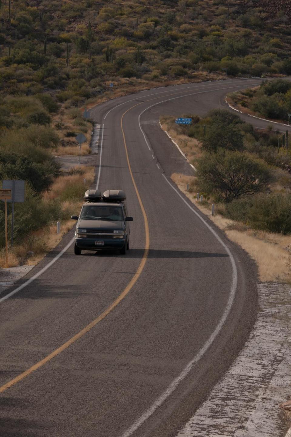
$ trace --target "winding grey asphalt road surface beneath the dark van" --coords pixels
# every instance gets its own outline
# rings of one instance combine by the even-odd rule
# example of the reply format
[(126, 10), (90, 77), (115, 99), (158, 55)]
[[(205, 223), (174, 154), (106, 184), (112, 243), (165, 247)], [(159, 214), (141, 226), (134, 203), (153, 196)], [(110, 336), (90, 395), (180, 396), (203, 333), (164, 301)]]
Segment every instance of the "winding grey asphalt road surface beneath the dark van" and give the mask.
[(256, 269), (175, 189), (171, 173), (192, 169), (158, 118), (224, 108), (258, 83), (155, 89), (92, 111), (94, 185), (126, 191), (130, 251), (75, 256), (72, 231), (1, 294), (1, 437), (174, 437), (224, 374), (256, 317)]

